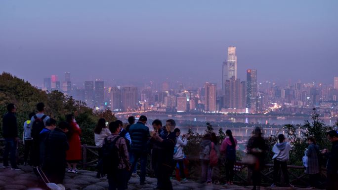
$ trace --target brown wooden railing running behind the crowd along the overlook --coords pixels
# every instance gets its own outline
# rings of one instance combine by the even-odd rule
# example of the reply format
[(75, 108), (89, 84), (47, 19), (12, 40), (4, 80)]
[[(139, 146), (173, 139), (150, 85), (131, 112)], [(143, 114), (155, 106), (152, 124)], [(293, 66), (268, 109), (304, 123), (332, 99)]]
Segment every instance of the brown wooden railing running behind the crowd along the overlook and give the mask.
[[(19, 148), (18, 150), (23, 150), (22, 149), (22, 141), (19, 143)], [(21, 148), (20, 148), (21, 147)], [(87, 146), (87, 145), (82, 145), (82, 161), (80, 162), (80, 166), (84, 170), (86, 169), (95, 169), (95, 166), (98, 161), (98, 147), (96, 146)], [(0, 159), (2, 159), (2, 152), (4, 150), (4, 139), (0, 139)], [(22, 161), (22, 153), (19, 152), (17, 154), (18, 156), (18, 161)], [(200, 166), (200, 160), (198, 156), (187, 156), (188, 160), (190, 161), (191, 167), (199, 167)], [(151, 164), (150, 164), (151, 165)], [(241, 162), (237, 162), (235, 165), (241, 165), (240, 171), (235, 171), (235, 179), (238, 184), (251, 184), (251, 171), (248, 169), (247, 165), (242, 164)], [(150, 166), (151, 167), (151, 166)], [(151, 168), (147, 168), (147, 171), (151, 171)], [(195, 169), (194, 172), (196, 174), (190, 175), (190, 179), (195, 179), (198, 180), (199, 173), (198, 169)], [(273, 164), (265, 164), (265, 169), (261, 171), (262, 175), (262, 181), (265, 184), (271, 184), (273, 183)], [(300, 184), (299, 186), (306, 185), (308, 183), (308, 180), (306, 179), (308, 176), (304, 174), (304, 167), (303, 166), (296, 166), (296, 165), (288, 165), (288, 173), (290, 177), (290, 183), (293, 184)], [(322, 169), (321, 175), (326, 177), (326, 172), (325, 169)], [(283, 175), (281, 175), (283, 176)], [(220, 179), (225, 178), (224, 174), (220, 174)], [(283, 177), (281, 177), (281, 181), (283, 182)]]

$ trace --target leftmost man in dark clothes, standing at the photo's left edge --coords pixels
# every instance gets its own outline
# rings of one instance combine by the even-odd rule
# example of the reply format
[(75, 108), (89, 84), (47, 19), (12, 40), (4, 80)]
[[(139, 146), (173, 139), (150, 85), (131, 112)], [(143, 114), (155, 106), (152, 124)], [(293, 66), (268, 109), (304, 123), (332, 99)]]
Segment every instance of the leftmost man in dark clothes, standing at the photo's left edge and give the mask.
[(21, 170), (16, 165), (16, 145), (18, 138), (18, 125), (16, 122), (16, 107), (14, 104), (7, 105), (8, 113), (2, 117), (2, 136), (5, 139), (5, 150), (3, 152), (3, 168), (8, 167), (8, 155), (10, 153), (10, 165), (12, 170)]

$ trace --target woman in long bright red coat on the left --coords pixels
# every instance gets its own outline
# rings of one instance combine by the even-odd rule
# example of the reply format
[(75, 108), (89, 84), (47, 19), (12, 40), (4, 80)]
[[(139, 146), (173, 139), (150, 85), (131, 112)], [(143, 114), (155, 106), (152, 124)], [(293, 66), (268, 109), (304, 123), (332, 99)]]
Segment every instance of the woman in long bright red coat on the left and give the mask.
[(69, 123), (69, 132), (68, 132), (68, 142), (69, 150), (67, 151), (67, 172), (69, 173), (78, 173), (76, 169), (77, 162), (82, 159), (81, 154), (81, 129), (80, 126), (76, 123), (74, 115), (66, 115), (66, 121)]

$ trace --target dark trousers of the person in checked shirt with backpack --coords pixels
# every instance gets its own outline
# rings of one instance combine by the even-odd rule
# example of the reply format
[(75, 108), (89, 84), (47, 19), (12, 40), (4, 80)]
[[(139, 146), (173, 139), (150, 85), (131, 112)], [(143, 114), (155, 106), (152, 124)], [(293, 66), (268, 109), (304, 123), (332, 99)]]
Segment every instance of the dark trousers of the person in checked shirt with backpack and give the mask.
[(108, 174), (108, 190), (126, 190), (128, 171), (117, 169), (113, 174)]

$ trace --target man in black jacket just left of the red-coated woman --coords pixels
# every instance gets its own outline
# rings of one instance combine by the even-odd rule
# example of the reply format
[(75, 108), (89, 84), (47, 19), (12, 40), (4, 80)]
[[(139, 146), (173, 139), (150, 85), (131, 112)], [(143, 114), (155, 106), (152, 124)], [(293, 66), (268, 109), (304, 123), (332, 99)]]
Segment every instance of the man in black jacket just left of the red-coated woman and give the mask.
[(62, 184), (65, 177), (66, 151), (69, 149), (66, 136), (68, 131), (69, 124), (60, 122), (45, 140), (43, 170), (51, 183)]

